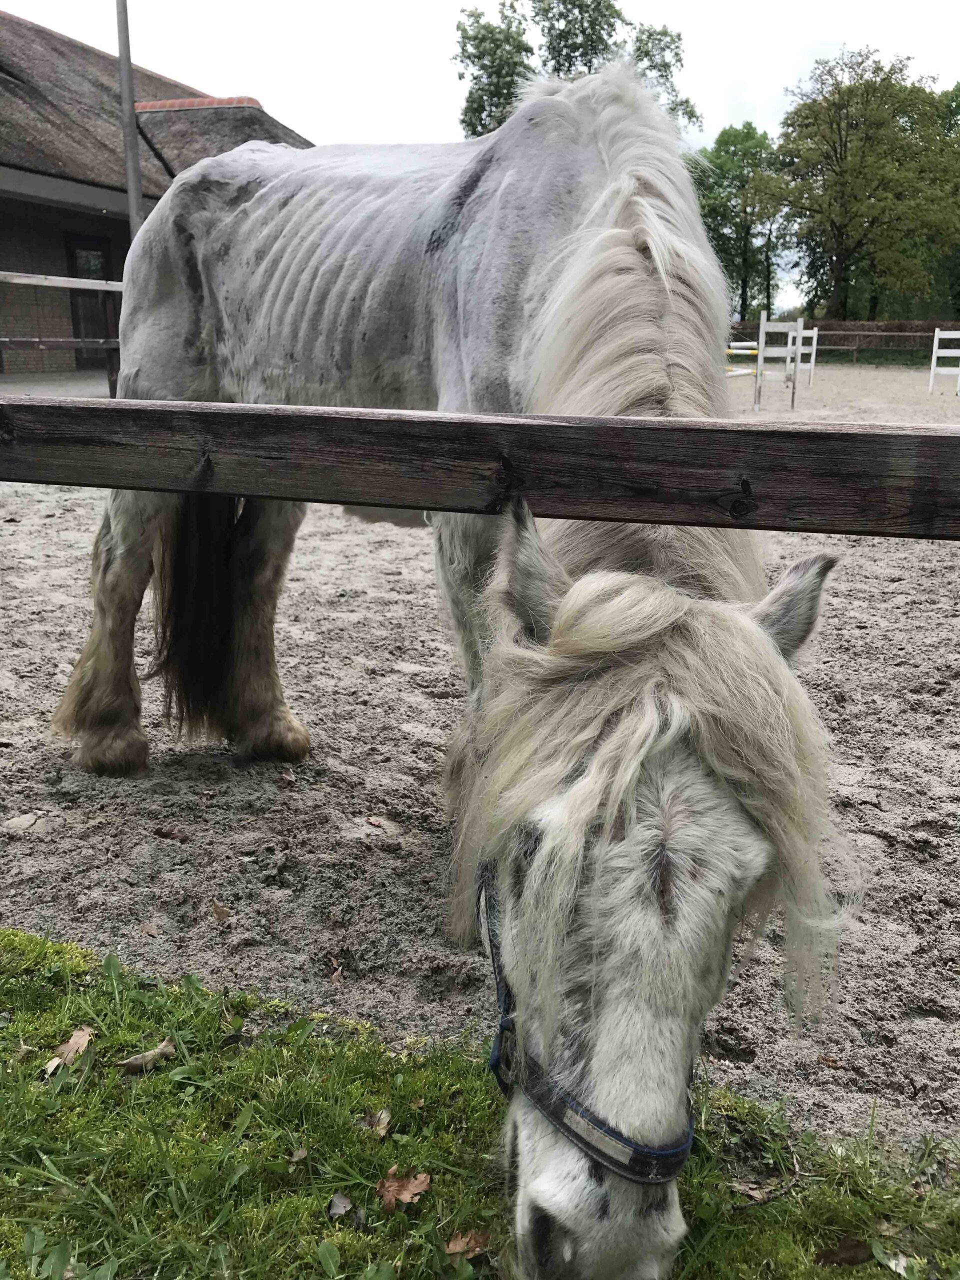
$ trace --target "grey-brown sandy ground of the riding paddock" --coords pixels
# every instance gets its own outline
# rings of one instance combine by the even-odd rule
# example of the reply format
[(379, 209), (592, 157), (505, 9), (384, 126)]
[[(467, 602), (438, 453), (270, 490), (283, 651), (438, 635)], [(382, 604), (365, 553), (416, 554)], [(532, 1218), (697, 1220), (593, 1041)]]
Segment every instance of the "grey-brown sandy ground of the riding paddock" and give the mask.
[[(22, 394), (13, 381), (0, 394)], [(797, 416), (960, 422), (940, 381), (928, 397), (922, 371), (823, 369)], [(753, 416), (750, 380), (732, 394)], [(764, 401), (785, 416), (782, 385)], [(177, 744), (147, 686), (151, 768), (116, 781), (77, 772), (47, 731), (88, 626), (101, 502), (0, 485), (0, 923), (370, 1019), (390, 1038), (485, 1032), (485, 961), (443, 928), (439, 776), (462, 684), (429, 531), (311, 511), (278, 622), (288, 698), (314, 740), (305, 764), (238, 767), (219, 746)], [(774, 924), (710, 1020), (707, 1062), (714, 1082), (786, 1098), (822, 1130), (865, 1128), (876, 1098), (888, 1132), (955, 1132), (960, 553), (776, 535), (771, 568), (815, 548), (842, 563), (804, 678), (835, 737), (833, 804), (865, 902), (819, 1033), (790, 1032)], [(142, 620), (141, 667), (150, 649)]]

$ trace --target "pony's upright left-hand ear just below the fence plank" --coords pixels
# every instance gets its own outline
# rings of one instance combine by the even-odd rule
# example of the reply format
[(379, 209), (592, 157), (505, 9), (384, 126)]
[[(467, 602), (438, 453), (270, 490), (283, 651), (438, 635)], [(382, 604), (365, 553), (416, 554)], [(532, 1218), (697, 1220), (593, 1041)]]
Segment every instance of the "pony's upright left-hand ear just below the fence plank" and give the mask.
[(530, 640), (545, 644), (557, 605), (570, 588), (570, 579), (559, 561), (544, 547), (522, 498), (511, 500), (502, 524), (493, 577), (495, 595), (520, 621)]

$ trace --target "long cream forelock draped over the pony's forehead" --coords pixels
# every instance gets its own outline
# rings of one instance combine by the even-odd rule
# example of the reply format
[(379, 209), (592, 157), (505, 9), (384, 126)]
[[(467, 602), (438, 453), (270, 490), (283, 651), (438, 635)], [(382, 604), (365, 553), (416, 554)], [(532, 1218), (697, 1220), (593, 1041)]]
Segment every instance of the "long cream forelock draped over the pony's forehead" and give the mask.
[(451, 762), (456, 923), (471, 927), (480, 860), (507, 858), (517, 824), (563, 795), (563, 833), (536, 852), (520, 925), (539, 991), (550, 991), (591, 828), (607, 840), (628, 831), (644, 769), (689, 749), (776, 850), (748, 914), (765, 919), (782, 900), (788, 986), (797, 1006), (815, 1006), (836, 927), (819, 865), (826, 737), (749, 608), (636, 573), (588, 573), (561, 599), (547, 643), (532, 645), (517, 636), (500, 584), (489, 595), (499, 630), (468, 741)]

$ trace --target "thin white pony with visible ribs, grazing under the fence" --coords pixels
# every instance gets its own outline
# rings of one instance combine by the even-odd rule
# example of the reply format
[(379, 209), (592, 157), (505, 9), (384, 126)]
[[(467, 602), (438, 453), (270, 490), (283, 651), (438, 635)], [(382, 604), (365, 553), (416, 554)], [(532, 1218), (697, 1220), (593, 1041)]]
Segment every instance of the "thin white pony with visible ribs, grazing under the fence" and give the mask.
[[(500, 129), (454, 146), (250, 143), (202, 161), (136, 239), (120, 339), (124, 397), (726, 408), (723, 282), (676, 132), (625, 68), (535, 84)], [(154, 568), (156, 668), (180, 726), (250, 756), (308, 750), (273, 648), (303, 509), (111, 495), (93, 628), (58, 713), (82, 765), (146, 763), (133, 623)], [(684, 1233), (678, 1166), (641, 1148), (686, 1134), (735, 928), (782, 897), (800, 995), (829, 936), (826, 751), (787, 659), (831, 562), (765, 594), (742, 531), (538, 527), (522, 500), (433, 525), (470, 689), (449, 767), (457, 914), (472, 925), (479, 877), (515, 1005), (521, 1266), (663, 1276)], [(657, 1176), (621, 1176), (603, 1155), (617, 1143)]]

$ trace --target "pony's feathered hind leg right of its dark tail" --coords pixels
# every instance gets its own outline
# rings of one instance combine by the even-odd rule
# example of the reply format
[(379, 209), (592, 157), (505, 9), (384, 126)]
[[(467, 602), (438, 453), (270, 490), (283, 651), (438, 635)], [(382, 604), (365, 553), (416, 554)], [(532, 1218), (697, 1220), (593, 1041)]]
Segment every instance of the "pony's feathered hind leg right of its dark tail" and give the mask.
[(247, 498), (233, 547), (233, 628), (224, 718), (239, 755), (302, 760), (310, 735), (283, 696), (274, 620), (306, 503)]

